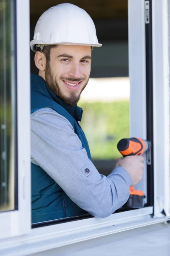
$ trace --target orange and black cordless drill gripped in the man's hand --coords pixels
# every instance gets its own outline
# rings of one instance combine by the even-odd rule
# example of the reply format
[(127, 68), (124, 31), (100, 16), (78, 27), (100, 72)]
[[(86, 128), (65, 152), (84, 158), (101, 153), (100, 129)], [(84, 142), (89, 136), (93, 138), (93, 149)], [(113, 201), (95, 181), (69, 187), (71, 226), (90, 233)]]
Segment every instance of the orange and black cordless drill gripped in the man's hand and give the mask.
[[(150, 151), (151, 142), (139, 138), (122, 139), (117, 144), (117, 148), (123, 157), (142, 155), (144, 152)], [(144, 197), (143, 191), (136, 190), (134, 186), (130, 186), (130, 197), (124, 207), (142, 208), (144, 207)]]

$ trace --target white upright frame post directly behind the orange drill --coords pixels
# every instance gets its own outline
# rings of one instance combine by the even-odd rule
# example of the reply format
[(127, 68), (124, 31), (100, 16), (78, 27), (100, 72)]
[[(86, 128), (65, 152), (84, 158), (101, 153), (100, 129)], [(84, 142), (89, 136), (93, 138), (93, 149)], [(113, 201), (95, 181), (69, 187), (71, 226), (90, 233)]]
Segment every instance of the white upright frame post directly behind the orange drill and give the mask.
[[(144, 0), (128, 1), (128, 46), (130, 78), (130, 137), (147, 139), (146, 124), (146, 50)], [(135, 188), (147, 195), (147, 166)]]

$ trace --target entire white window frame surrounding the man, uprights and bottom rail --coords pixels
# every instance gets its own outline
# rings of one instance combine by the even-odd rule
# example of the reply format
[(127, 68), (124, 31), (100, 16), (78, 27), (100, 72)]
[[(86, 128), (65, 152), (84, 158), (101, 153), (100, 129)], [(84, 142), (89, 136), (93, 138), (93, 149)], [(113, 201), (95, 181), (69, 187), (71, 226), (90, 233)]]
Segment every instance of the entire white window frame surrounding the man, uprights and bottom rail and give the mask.
[[(155, 1), (153, 5), (153, 62), (157, 58), (159, 51), (167, 53), (167, 31), (164, 25), (167, 24), (164, 15), (166, 10), (167, 0)], [(164, 209), (167, 216), (161, 214), (161, 208), (154, 206), (156, 212), (155, 218), (151, 218), (150, 214), (153, 213), (153, 207), (146, 207), (142, 209), (130, 210), (127, 212), (120, 212), (112, 214), (107, 218), (88, 218), (84, 220), (77, 220), (71, 222), (65, 222), (61, 224), (54, 224), (46, 227), (39, 227), (31, 230), (31, 207), (30, 207), (30, 79), (29, 79), (29, 1), (17, 0), (17, 86), (18, 86), (18, 175), (19, 175), (19, 211), (16, 217), (16, 223), (11, 225), (11, 233), (8, 233), (9, 239), (1, 240), (0, 254), (8, 255), (10, 250), (10, 256), (20, 256), (28, 255), (31, 253), (36, 253), (44, 250), (49, 250), (52, 248), (60, 247), (66, 244), (71, 244), (79, 241), (85, 241), (99, 236), (105, 236), (113, 234), (116, 232), (129, 230), (136, 227), (142, 227), (145, 225), (155, 224), (158, 222), (166, 221), (170, 219), (170, 214), (168, 212), (169, 203), (167, 200), (167, 194), (163, 189), (159, 189), (159, 181), (161, 185), (165, 185), (167, 188), (167, 179), (169, 177), (169, 161), (165, 159), (164, 154), (158, 158), (160, 153), (159, 145), (161, 150), (169, 152), (169, 131), (166, 127), (169, 124), (168, 121), (165, 122), (167, 118), (166, 114), (167, 106), (169, 101), (167, 99), (168, 83), (167, 69), (165, 65), (167, 63), (166, 58), (160, 58), (160, 64), (153, 65), (153, 88), (154, 88), (154, 189), (155, 189), (155, 200), (159, 196), (164, 196)], [(145, 24), (144, 24), (144, 1), (129, 0), (128, 1), (128, 12), (129, 12), (129, 70), (130, 70), (130, 122), (131, 129), (130, 135), (136, 137), (146, 138), (146, 91), (145, 91)], [(159, 16), (159, 19), (156, 18)], [(19, 20), (23, 20), (23, 23), (19, 23)], [(163, 39), (162, 44), (158, 44), (157, 40), (159, 33), (156, 32), (158, 29), (158, 24), (162, 22), (162, 26), (159, 27), (159, 33), (162, 33)], [(23, 28), (23, 29), (22, 29)], [(27, 35), (26, 35), (27, 34)], [(22, 41), (24, 38), (24, 42)], [(23, 69), (23, 52), (20, 49), (26, 49), (24, 64), (26, 64)], [(136, 44), (138, 47), (136, 47)], [(28, 49), (27, 49), (28, 47)], [(159, 51), (158, 51), (159, 49)], [(159, 82), (157, 81), (158, 72), (157, 69), (163, 66), (163, 75), (159, 76)], [(137, 68), (136, 68), (137, 67)], [(167, 76), (168, 77), (168, 76)], [(163, 84), (163, 92), (160, 92), (159, 84)], [(27, 97), (26, 97), (27, 96)], [(161, 103), (158, 106), (156, 98), (160, 96), (161, 103), (165, 100), (165, 103), (161, 107)], [(169, 96), (169, 94), (168, 94)], [(136, 105), (141, 106), (136, 111)], [(160, 113), (158, 113), (158, 108), (161, 107)], [(139, 114), (140, 111), (140, 114)], [(162, 114), (164, 113), (164, 114)], [(168, 116), (169, 118), (169, 116)], [(160, 125), (159, 122), (163, 122)], [(168, 123), (167, 123), (168, 122)], [(156, 129), (159, 124), (159, 129)], [(169, 128), (169, 126), (168, 126)], [(164, 132), (163, 140), (159, 139), (160, 134)], [(156, 158), (157, 157), (157, 158)], [(167, 157), (168, 158), (168, 157)], [(160, 164), (163, 163), (164, 170), (163, 175), (160, 178), (159, 168)], [(144, 179), (146, 176), (144, 177)], [(24, 181), (25, 180), (25, 181)], [(25, 185), (23, 185), (25, 183)], [(142, 184), (142, 183), (141, 183)], [(144, 186), (144, 183), (139, 186)], [(0, 213), (5, 214), (5, 213)], [(11, 212), (9, 212), (11, 214)], [(17, 213), (16, 213), (17, 214)], [(20, 217), (20, 219), (19, 219)], [(12, 217), (10, 218), (12, 219)], [(7, 221), (7, 219), (6, 219)], [(7, 224), (7, 222), (6, 222)], [(21, 228), (23, 225), (23, 229)], [(10, 225), (9, 225), (10, 227)], [(14, 228), (17, 232), (14, 232)], [(9, 228), (10, 229), (10, 228)], [(25, 236), (19, 236), (28, 233)], [(11, 238), (10, 236), (17, 237)]]

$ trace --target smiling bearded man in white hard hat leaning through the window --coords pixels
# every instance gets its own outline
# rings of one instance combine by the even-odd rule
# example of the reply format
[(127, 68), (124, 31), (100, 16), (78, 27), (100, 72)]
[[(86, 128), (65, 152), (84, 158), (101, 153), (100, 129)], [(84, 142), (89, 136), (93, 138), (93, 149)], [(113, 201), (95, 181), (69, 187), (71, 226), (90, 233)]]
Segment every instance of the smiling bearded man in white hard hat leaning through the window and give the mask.
[(142, 179), (143, 157), (120, 158), (108, 177), (91, 161), (77, 107), (100, 47), (91, 17), (64, 3), (42, 14), (31, 49), (32, 223), (86, 214), (103, 218), (122, 207)]

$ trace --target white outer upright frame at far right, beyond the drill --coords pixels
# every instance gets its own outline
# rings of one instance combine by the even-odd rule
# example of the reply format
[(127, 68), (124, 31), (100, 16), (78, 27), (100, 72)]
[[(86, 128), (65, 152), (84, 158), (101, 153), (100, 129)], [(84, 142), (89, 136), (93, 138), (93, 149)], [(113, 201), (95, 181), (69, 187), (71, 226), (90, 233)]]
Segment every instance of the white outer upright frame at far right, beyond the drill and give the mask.
[(167, 0), (152, 1), (152, 4), (154, 215), (160, 216), (162, 209), (164, 209), (166, 215), (170, 216), (170, 82), (168, 62), (168, 4)]

